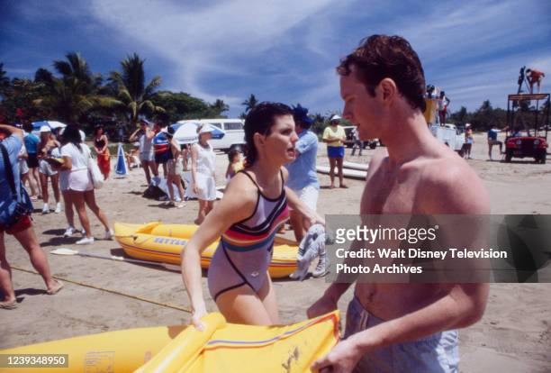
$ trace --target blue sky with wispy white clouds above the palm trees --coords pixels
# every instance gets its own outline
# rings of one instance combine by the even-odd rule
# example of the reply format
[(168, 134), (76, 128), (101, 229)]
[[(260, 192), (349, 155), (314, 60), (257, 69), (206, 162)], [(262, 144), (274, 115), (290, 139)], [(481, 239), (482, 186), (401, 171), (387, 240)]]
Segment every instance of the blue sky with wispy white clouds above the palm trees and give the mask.
[[(484, 100), (506, 107), (519, 68), (551, 71), (551, 1), (0, 0), (0, 62), (9, 77), (53, 70), (78, 51), (93, 72), (120, 69), (133, 52), (159, 89), (230, 105), (260, 101), (342, 110), (339, 59), (363, 38), (405, 37), (428, 84), (455, 112)], [(551, 77), (543, 82), (544, 91)]]

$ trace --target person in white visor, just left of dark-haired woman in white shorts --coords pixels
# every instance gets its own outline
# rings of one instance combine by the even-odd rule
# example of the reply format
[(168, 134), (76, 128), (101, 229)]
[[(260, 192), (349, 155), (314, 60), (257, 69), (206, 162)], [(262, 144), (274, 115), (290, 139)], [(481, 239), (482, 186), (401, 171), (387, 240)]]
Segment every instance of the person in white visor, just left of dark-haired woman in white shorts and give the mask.
[(58, 171), (51, 168), (50, 163), (46, 161), (48, 158), (59, 158), (59, 141), (52, 135), (50, 127), (47, 125), (41, 126), (41, 142), (37, 147), (37, 155), (39, 158), (39, 175), (41, 178), (42, 188), (42, 200), (44, 206), (42, 207), (42, 214), (50, 213), (50, 206), (48, 205), (48, 178), (51, 179), (51, 188), (56, 198), (56, 210), (55, 213), (61, 212), (61, 203), (59, 202), (59, 175)]

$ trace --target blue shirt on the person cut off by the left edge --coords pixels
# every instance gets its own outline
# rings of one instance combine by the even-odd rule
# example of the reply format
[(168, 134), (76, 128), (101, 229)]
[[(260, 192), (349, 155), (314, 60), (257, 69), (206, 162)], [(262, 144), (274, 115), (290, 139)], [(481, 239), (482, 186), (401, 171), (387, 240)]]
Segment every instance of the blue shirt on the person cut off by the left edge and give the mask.
[[(8, 151), (8, 155), (10, 158), (9, 163), (12, 165), (12, 170), (14, 172), (15, 190), (17, 196), (19, 197), (19, 187), (21, 186), (21, 183), (19, 181), (17, 155), (19, 154), (19, 150), (21, 150), (21, 148), (23, 147), (23, 141), (21, 141), (19, 136), (12, 135), (2, 141), (2, 144)], [(10, 187), (10, 183), (8, 182), (6, 177), (4, 156), (2, 155), (2, 152), (0, 152), (0, 190), (2, 191), (0, 193), (0, 224), (5, 224), (9, 217), (14, 214), (17, 200), (14, 199), (12, 188)]]

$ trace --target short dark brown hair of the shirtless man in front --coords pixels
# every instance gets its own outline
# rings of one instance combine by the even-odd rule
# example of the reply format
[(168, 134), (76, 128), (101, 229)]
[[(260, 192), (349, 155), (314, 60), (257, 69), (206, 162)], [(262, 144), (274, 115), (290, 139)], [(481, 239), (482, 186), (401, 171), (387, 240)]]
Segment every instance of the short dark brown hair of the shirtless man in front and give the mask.
[(348, 77), (352, 66), (369, 95), (375, 97), (375, 86), (390, 77), (413, 109), (425, 111), (425, 74), (419, 56), (401, 36), (372, 35), (360, 41), (354, 52), (340, 60), (337, 72)]

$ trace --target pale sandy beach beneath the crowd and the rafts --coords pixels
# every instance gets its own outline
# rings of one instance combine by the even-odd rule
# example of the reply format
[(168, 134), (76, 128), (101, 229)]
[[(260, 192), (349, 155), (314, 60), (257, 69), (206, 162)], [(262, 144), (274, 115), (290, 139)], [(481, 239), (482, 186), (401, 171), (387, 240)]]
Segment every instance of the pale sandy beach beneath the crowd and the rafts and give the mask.
[[(362, 157), (353, 157), (347, 150), (345, 160), (367, 163), (374, 151), (364, 150)], [(497, 147), (493, 151), (494, 159), (498, 158)], [(475, 134), (473, 157), (468, 163), (490, 192), (492, 214), (551, 214), (551, 164), (534, 164), (531, 159), (516, 159), (510, 164), (488, 161), (485, 134)], [(319, 164), (327, 164), (324, 145), (320, 145), (318, 159)], [(547, 162), (549, 160), (548, 156)], [(227, 162), (226, 155), (217, 155), (218, 184), (222, 183)], [(114, 176), (112, 174), (104, 188), (96, 191), (98, 204), (112, 225), (114, 222), (151, 221), (193, 223), (197, 214), (196, 201), (187, 202), (183, 209), (167, 209), (157, 201), (141, 197), (146, 188), (141, 168), (131, 170), (125, 178)], [(319, 177), (322, 187), (329, 185), (328, 176)], [(348, 180), (348, 187), (322, 188), (319, 213), (357, 214), (363, 182)], [(36, 203), (35, 208), (41, 208), (41, 202)], [(64, 214), (37, 213), (33, 216), (34, 230), (45, 251), (65, 247), (102, 255), (122, 255), (116, 241), (96, 240), (92, 246), (79, 247), (74, 244), (77, 236), (64, 239), (62, 234), (67, 226)], [(90, 218), (95, 237), (102, 237), (100, 223), (92, 214)], [(290, 233), (287, 235), (291, 237)], [(25, 251), (13, 237), (5, 237), (19, 306), (12, 311), (0, 311), (0, 348), (127, 328), (189, 323), (190, 314), (176, 309), (188, 308), (189, 304), (180, 274), (175, 271), (49, 254), (53, 274), (64, 280), (66, 287), (59, 295), (47, 296), (41, 277), (30, 272), (33, 269)], [(305, 310), (327, 286), (323, 279), (276, 280), (282, 321), (303, 320)], [(203, 277), (203, 289), (209, 310), (215, 311), (216, 306), (208, 296), (206, 277)], [(349, 290), (339, 303), (343, 319), (351, 296)], [(550, 310), (551, 284), (492, 285), (483, 320), (460, 332), (461, 371), (549, 371)]]

